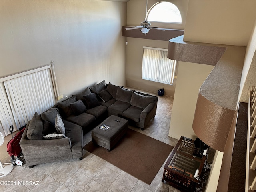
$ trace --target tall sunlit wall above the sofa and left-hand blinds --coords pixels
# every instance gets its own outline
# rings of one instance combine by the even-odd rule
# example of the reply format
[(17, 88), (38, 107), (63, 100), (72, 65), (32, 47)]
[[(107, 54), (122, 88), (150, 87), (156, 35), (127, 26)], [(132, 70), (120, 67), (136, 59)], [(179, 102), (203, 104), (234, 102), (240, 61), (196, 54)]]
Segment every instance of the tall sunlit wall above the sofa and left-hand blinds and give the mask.
[(53, 60), (64, 96), (104, 79), (125, 85), (125, 2), (2, 0), (0, 18), (0, 77)]

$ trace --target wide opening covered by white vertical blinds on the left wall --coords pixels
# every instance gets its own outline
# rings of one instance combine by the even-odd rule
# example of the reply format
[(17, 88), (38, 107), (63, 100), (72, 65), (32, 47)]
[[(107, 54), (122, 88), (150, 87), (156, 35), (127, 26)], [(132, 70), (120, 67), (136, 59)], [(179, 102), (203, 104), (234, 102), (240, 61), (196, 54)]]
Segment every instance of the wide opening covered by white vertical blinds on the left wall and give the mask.
[(50, 66), (0, 79), (0, 131), (6, 136), (26, 125), (34, 113), (56, 104)]

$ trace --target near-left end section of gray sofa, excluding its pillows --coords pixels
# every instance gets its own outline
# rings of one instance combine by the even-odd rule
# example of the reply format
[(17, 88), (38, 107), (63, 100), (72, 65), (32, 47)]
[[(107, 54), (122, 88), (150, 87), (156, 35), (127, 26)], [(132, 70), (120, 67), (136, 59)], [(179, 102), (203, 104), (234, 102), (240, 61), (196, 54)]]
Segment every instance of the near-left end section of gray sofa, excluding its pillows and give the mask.
[(82, 127), (68, 121), (63, 121), (67, 138), (50, 140), (30, 140), (27, 137), (28, 122), (20, 146), (30, 167), (48, 162), (82, 158), (83, 156), (83, 132)]

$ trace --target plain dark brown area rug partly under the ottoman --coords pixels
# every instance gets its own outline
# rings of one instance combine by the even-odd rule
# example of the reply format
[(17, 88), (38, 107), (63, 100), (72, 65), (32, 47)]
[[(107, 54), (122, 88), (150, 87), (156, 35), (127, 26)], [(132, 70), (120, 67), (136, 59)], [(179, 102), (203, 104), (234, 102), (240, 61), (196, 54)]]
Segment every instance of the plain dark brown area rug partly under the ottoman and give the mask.
[(110, 152), (92, 142), (84, 146), (85, 150), (147, 184), (155, 178), (172, 148), (173, 146), (131, 129), (128, 129)]

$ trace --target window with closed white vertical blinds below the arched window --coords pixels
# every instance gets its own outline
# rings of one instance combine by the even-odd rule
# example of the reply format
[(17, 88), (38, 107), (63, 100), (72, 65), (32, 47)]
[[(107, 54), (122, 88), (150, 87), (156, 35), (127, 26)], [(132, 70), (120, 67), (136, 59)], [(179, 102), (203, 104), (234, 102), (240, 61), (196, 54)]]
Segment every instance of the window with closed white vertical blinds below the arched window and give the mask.
[(167, 51), (143, 47), (142, 79), (172, 85), (177, 61), (168, 59)]

